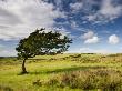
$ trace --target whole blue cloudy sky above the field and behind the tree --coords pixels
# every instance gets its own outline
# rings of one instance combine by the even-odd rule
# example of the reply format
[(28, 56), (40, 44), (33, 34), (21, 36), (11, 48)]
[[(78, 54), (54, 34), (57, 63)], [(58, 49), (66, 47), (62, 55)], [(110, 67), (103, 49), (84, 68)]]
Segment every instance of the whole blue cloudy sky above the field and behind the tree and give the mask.
[(40, 28), (71, 38), (68, 53), (121, 53), (122, 0), (0, 0), (0, 57)]

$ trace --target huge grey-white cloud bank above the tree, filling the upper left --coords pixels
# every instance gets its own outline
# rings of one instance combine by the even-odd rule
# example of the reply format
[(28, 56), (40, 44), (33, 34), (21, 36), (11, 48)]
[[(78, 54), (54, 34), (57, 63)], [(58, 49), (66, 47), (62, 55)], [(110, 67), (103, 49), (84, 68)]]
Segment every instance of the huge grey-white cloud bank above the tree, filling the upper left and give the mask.
[(42, 0), (0, 1), (0, 39), (20, 39), (37, 28), (51, 28), (59, 17), (64, 13)]

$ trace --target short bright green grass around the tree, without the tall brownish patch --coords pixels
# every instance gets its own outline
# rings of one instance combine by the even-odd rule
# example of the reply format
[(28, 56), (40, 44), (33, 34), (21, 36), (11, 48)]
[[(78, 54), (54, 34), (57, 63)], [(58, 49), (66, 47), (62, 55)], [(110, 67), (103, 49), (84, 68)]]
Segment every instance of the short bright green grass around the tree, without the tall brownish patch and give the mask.
[[(38, 79), (48, 80), (54, 74), (67, 71), (88, 70), (88, 69), (98, 69), (98, 68), (109, 68), (116, 70), (122, 69), (122, 62), (82, 63), (80, 61), (70, 61), (71, 59), (62, 60), (62, 58), (69, 55), (72, 54), (63, 54), (55, 57), (50, 57), (50, 55), (35, 57), (34, 62), (30, 61), (29, 63), (27, 63), (27, 69), (30, 73), (24, 75), (19, 75), (19, 72), (21, 71), (21, 64), (3, 63), (0, 65), (0, 88), (2, 88), (0, 90), (4, 89), (4, 91), (12, 91), (13, 89), (14, 91), (81, 91), (70, 88), (61, 89), (54, 87), (38, 87), (38, 85), (33, 85), (32, 82)], [(100, 55), (83, 54), (83, 57), (87, 58), (89, 57), (93, 59), (93, 58), (99, 58)], [(108, 57), (106, 59), (111, 60), (111, 58), (112, 57)], [(120, 57), (115, 57), (115, 59), (118, 58), (120, 59)]]

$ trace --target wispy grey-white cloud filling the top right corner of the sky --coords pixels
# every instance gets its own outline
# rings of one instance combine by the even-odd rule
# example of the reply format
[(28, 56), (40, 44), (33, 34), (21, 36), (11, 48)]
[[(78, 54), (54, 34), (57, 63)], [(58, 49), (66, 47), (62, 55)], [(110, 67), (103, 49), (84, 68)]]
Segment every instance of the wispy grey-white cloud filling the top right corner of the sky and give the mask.
[(92, 13), (89, 11), (89, 14), (83, 19), (94, 23), (105, 23), (113, 21), (120, 16), (122, 16), (121, 4), (114, 4), (112, 0), (102, 0), (100, 9)]

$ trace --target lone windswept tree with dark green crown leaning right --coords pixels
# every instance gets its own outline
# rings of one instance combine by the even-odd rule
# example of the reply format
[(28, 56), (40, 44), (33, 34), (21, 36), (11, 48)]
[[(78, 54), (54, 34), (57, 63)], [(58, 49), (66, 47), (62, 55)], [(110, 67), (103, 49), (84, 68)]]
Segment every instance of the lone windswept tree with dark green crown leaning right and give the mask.
[(58, 31), (45, 32), (45, 29), (35, 30), (28, 38), (21, 39), (16, 50), (18, 58), (22, 59), (22, 73), (27, 73), (26, 60), (35, 55), (58, 54), (68, 50), (72, 42), (67, 36)]

